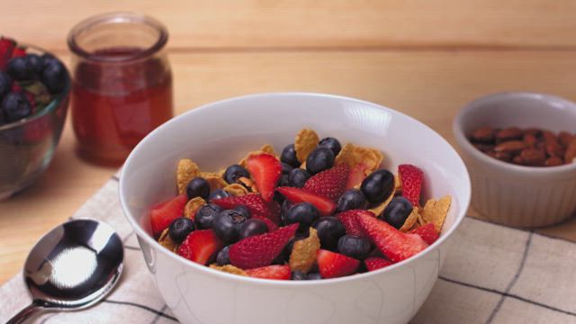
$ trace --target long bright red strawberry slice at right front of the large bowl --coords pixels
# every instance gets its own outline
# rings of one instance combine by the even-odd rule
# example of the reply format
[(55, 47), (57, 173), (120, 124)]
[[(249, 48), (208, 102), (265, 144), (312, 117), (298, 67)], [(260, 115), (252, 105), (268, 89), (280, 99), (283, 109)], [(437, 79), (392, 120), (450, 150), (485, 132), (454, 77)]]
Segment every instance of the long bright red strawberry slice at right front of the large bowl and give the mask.
[(369, 215), (358, 215), (357, 220), (368, 238), (394, 263), (412, 257), (428, 247), (418, 234), (403, 233), (383, 220)]

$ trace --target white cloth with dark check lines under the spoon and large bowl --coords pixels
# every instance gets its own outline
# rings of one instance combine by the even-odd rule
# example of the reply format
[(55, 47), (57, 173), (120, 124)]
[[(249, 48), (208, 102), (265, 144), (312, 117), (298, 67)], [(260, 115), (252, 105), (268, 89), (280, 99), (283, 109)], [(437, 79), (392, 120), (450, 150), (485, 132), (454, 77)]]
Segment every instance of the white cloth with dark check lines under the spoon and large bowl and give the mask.
[[(112, 294), (96, 306), (46, 313), (32, 322), (176, 322), (157, 293), (122, 215), (118, 178), (113, 176), (73, 218), (104, 220), (118, 231), (126, 249), (124, 274)], [(0, 322), (31, 302), (22, 274), (0, 288), (0, 301)], [(575, 301), (575, 242), (468, 217), (455, 232), (437, 284), (411, 322), (576, 323)], [(282, 317), (278, 320), (282, 323)]]

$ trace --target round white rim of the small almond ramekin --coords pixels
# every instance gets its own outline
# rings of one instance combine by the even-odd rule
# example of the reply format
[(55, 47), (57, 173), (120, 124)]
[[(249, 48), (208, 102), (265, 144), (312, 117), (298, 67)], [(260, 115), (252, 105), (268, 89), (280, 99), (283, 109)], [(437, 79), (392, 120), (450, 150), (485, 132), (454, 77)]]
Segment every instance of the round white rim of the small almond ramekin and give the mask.
[(537, 101), (544, 101), (543, 99), (548, 99), (557, 103), (563, 103), (572, 110), (576, 112), (576, 103), (570, 100), (564, 99), (562, 97), (552, 95), (552, 94), (540, 94), (535, 92), (502, 92), (497, 94), (484, 95), (478, 99), (473, 100), (470, 103), (466, 103), (464, 107), (456, 114), (454, 121), (452, 122), (452, 131), (455, 134), (456, 142), (460, 148), (465, 149), (474, 158), (482, 161), (483, 164), (505, 169), (506, 172), (510, 172), (516, 175), (565, 175), (572, 174), (576, 172), (576, 163), (569, 163), (563, 166), (518, 166), (512, 163), (500, 161), (497, 158), (489, 157), (488, 155), (482, 153), (478, 148), (474, 148), (470, 140), (464, 134), (462, 129), (462, 124), (464, 122), (464, 115), (471, 112), (478, 107), (484, 105), (485, 102), (496, 101), (499, 99), (509, 99), (510, 97), (518, 98), (528, 98)]

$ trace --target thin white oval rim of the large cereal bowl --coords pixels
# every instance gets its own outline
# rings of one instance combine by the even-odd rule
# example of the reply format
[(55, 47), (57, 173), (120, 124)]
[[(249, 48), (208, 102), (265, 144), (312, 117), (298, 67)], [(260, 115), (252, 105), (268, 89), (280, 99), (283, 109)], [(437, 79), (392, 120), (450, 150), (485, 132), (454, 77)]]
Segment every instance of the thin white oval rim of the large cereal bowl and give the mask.
[(130, 225), (132, 226), (132, 228), (136, 231), (137, 234), (139, 234), (139, 237), (145, 239), (150, 247), (154, 247), (155, 250), (161, 251), (161, 253), (165, 254), (168, 257), (171, 257), (172, 259), (174, 259), (176, 262), (180, 263), (181, 265), (191, 266), (191, 267), (203, 272), (206, 275), (212, 275), (212, 276), (219, 277), (219, 278), (226, 279), (228, 281), (233, 281), (233, 282), (243, 282), (246, 284), (256, 284), (256, 285), (264, 285), (264, 286), (279, 286), (279, 285), (314, 286), (314, 285), (323, 285), (323, 284), (345, 283), (348, 281), (356, 281), (356, 280), (359, 280), (362, 278), (368, 278), (368, 277), (371, 277), (374, 275), (380, 275), (380, 274), (383, 274), (385, 272), (391, 272), (391, 271), (393, 271), (393, 270), (395, 270), (401, 266), (405, 266), (405, 265), (408, 265), (412, 262), (415, 262), (420, 257), (424, 257), (425, 255), (432, 252), (433, 250), (436, 250), (436, 248), (439, 247), (440, 245), (442, 245), (446, 241), (447, 238), (452, 236), (452, 234), (455, 232), (455, 229), (457, 229), (458, 226), (460, 226), (460, 223), (462, 222), (462, 220), (464, 220), (464, 217), (466, 216), (466, 211), (468, 210), (468, 207), (470, 206), (470, 200), (471, 200), (472, 187), (471, 187), (471, 183), (470, 183), (470, 175), (468, 174), (468, 169), (466, 168), (464, 161), (462, 160), (462, 157), (460, 157), (460, 155), (455, 150), (455, 148), (452, 147), (452, 145), (450, 145), (450, 143), (448, 143), (448, 141), (446, 139), (444, 139), (440, 134), (438, 134), (436, 130), (432, 130), (430, 127), (428, 127), (428, 125), (424, 124), (423, 122), (418, 121), (417, 119), (410, 117), (409, 115), (404, 114), (402, 112), (395, 111), (392, 108), (388, 108), (388, 107), (385, 107), (385, 106), (377, 104), (377, 103), (370, 103), (370, 102), (367, 102), (364, 100), (350, 98), (350, 97), (343, 96), (343, 95), (317, 94), (317, 93), (305, 93), (305, 92), (247, 94), (247, 95), (232, 97), (229, 99), (223, 99), (223, 100), (212, 102), (212, 103), (202, 104), (201, 106), (194, 108), (193, 110), (190, 110), (188, 112), (184, 112), (181, 115), (176, 116), (175, 118), (173, 118), (170, 121), (166, 121), (164, 124), (158, 126), (156, 130), (152, 130), (144, 139), (142, 139), (139, 142), (139, 144), (136, 146), (136, 148), (134, 148), (132, 150), (132, 152), (130, 152), (130, 156), (126, 159), (126, 162), (124, 163), (124, 166), (122, 166), (122, 169), (126, 166), (130, 166), (131, 159), (132, 159), (134, 152), (138, 151), (141, 147), (145, 146), (146, 143), (148, 142), (148, 139), (153, 137), (154, 134), (158, 130), (163, 129), (165, 127), (168, 127), (167, 125), (171, 121), (174, 121), (176, 118), (179, 118), (180, 116), (184, 116), (187, 114), (200, 113), (203, 110), (210, 109), (210, 107), (212, 105), (215, 105), (215, 104), (229, 103), (229, 102), (238, 101), (238, 100), (246, 100), (246, 99), (250, 99), (250, 98), (260, 98), (260, 97), (266, 97), (266, 96), (293, 96), (293, 95), (310, 96), (310, 97), (326, 97), (326, 98), (333, 98), (333, 99), (338, 99), (338, 100), (351, 101), (351, 102), (355, 102), (355, 103), (363, 103), (369, 107), (369, 108), (367, 107), (367, 109), (385, 110), (385, 111), (389, 111), (392, 113), (401, 114), (402, 116), (410, 119), (411, 121), (418, 123), (420, 126), (426, 128), (426, 129), (432, 131), (434, 134), (436, 134), (442, 141), (444, 141), (446, 143), (446, 145), (450, 149), (452, 149), (454, 151), (455, 156), (458, 157), (459, 163), (463, 166), (464, 172), (465, 172), (464, 187), (465, 187), (466, 193), (464, 193), (463, 202), (460, 202), (461, 205), (458, 206), (460, 208), (460, 210), (455, 217), (455, 222), (452, 225), (452, 227), (450, 229), (448, 229), (444, 235), (442, 235), (440, 238), (438, 238), (436, 242), (434, 242), (432, 245), (427, 247), (425, 250), (423, 250), (422, 252), (420, 252), (416, 256), (409, 257), (408, 259), (403, 260), (401, 262), (398, 262), (396, 264), (393, 264), (392, 266), (386, 266), (382, 269), (366, 272), (364, 274), (347, 275), (347, 276), (338, 277), (338, 278), (331, 278), (331, 279), (302, 280), (302, 281), (251, 278), (251, 277), (247, 277), (247, 276), (243, 276), (243, 275), (232, 275), (229, 273), (222, 272), (220, 270), (211, 269), (209, 266), (202, 266), (202, 265), (197, 264), (197, 263), (195, 263), (191, 260), (188, 260), (184, 257), (180, 257), (177, 254), (175, 254), (174, 252), (169, 251), (167, 248), (162, 247), (154, 238), (152, 238), (148, 234), (148, 232), (146, 232), (144, 229), (142, 229), (142, 227), (139, 225), (139, 221), (137, 221), (132, 216), (132, 214), (130, 213), (130, 209), (128, 207), (128, 202), (124, 199), (123, 195), (121, 194), (123, 192), (123, 187), (124, 187), (124, 180), (123, 180), (124, 177), (121, 175), (118, 194), (120, 196), (122, 211), (123, 211), (124, 217), (126, 219), (128, 219), (128, 221), (130, 222)]

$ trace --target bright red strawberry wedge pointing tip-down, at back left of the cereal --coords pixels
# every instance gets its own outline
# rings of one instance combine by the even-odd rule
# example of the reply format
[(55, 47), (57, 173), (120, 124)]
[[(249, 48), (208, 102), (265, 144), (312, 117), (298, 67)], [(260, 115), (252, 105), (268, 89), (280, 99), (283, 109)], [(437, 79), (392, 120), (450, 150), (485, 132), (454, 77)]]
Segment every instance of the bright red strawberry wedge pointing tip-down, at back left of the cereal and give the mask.
[(280, 161), (272, 154), (262, 153), (247, 158), (246, 168), (265, 202), (274, 198), (274, 188), (282, 175)]

